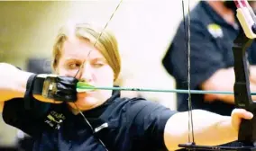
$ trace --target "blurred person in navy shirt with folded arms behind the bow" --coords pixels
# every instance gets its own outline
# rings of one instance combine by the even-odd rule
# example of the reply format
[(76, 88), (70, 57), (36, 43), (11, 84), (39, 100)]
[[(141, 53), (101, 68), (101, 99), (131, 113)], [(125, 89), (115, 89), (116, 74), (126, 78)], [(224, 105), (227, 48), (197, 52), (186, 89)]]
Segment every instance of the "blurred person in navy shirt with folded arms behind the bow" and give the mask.
[[(253, 8), (256, 2), (249, 2)], [(233, 1), (200, 1), (190, 13), (190, 88), (233, 91), (233, 40), (242, 28), (235, 16)], [(186, 17), (186, 23), (187, 23)], [(162, 58), (162, 65), (176, 80), (178, 89), (187, 89), (187, 48), (184, 21)], [(256, 43), (248, 49), (251, 91), (256, 91)], [(252, 96), (253, 99), (255, 96)], [(178, 93), (178, 111), (187, 111), (186, 93)], [(230, 115), (233, 95), (191, 94), (192, 108)]]

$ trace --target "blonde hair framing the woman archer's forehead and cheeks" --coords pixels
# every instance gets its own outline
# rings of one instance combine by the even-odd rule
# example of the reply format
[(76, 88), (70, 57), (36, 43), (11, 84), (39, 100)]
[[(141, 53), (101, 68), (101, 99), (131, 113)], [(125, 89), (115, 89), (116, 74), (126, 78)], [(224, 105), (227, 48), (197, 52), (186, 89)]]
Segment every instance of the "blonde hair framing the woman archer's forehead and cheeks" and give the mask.
[(53, 45), (53, 59), (51, 63), (53, 70), (56, 71), (56, 68), (58, 67), (63, 43), (69, 38), (77, 37), (89, 40), (90, 43), (95, 44), (96, 49), (102, 53), (108, 65), (113, 69), (114, 80), (117, 79), (121, 70), (121, 58), (117, 41), (114, 38), (114, 34), (110, 31), (102, 31), (102, 29), (98, 29), (96, 26), (93, 27), (87, 23), (63, 26), (60, 29), (57, 39)]

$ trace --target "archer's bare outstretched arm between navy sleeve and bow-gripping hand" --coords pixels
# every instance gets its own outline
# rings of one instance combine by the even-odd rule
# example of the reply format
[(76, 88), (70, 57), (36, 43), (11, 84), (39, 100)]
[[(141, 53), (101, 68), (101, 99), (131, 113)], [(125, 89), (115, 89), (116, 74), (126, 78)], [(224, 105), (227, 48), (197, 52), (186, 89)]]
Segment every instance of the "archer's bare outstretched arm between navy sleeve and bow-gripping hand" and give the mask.
[[(237, 139), (238, 134), (232, 127), (230, 117), (200, 110), (192, 111), (192, 114), (197, 145), (216, 146)], [(177, 113), (167, 122), (164, 138), (169, 150), (178, 149), (178, 144), (188, 142), (187, 137), (190, 132), (187, 122), (187, 111)]]

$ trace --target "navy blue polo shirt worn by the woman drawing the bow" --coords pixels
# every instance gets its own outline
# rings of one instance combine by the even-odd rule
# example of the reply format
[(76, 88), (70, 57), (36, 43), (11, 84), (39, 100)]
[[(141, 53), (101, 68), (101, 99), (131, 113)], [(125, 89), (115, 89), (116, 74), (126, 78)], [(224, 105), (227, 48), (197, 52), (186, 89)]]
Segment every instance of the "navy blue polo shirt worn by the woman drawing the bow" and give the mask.
[(167, 150), (163, 132), (176, 112), (142, 98), (120, 98), (115, 91), (103, 105), (84, 111), (85, 118), (65, 103), (33, 105), (25, 111), (23, 99), (5, 102), (3, 119), (32, 136), (34, 151)]

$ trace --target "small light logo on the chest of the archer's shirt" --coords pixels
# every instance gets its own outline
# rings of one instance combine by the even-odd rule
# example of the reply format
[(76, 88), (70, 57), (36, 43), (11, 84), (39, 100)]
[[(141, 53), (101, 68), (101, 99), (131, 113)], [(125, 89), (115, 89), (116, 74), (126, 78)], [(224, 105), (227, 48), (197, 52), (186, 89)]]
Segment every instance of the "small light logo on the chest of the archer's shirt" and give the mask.
[(50, 113), (47, 115), (46, 120), (44, 120), (45, 123), (47, 123), (51, 128), (59, 129), (60, 124), (65, 120), (66, 117), (59, 112), (56, 111), (50, 111)]

